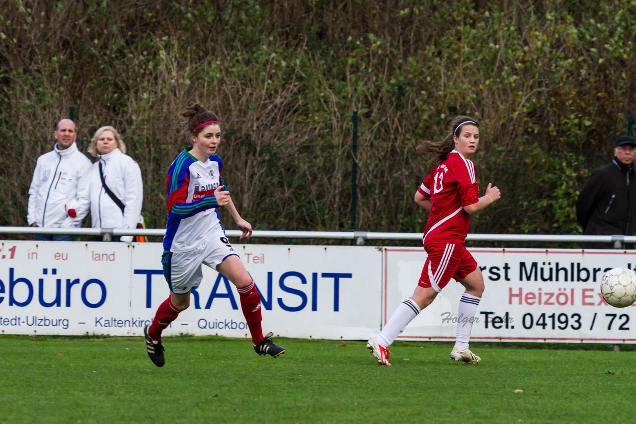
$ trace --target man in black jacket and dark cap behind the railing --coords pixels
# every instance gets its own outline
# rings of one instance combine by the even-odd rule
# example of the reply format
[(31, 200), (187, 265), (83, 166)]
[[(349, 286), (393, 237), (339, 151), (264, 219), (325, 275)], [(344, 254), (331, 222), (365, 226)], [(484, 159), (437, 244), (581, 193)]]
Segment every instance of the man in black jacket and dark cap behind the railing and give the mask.
[[(586, 235), (633, 235), (636, 224), (636, 141), (616, 139), (614, 159), (585, 182), (576, 201), (576, 219)], [(586, 243), (588, 249), (621, 248), (620, 242)]]

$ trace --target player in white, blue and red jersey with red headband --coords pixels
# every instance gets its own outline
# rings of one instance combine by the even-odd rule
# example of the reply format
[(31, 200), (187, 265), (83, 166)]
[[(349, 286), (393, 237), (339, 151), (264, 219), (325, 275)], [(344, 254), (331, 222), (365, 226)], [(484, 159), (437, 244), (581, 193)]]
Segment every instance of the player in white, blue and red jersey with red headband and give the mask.
[(156, 366), (165, 364), (162, 331), (190, 306), (190, 291), (200, 284), (205, 264), (236, 285), (256, 353), (277, 357), (285, 349), (273, 343), (271, 332), (263, 336), (261, 295), (219, 222), (217, 209), (225, 207), (242, 231), (240, 238), (252, 235), (251, 224), (237, 212), (221, 177), (223, 161), (216, 154), (221, 143), (219, 118), (198, 104), (188, 107), (183, 116), (188, 118), (192, 147), (177, 156), (167, 176), (168, 224), (162, 264), (170, 296), (157, 309), (152, 324), (144, 328), (146, 351)]

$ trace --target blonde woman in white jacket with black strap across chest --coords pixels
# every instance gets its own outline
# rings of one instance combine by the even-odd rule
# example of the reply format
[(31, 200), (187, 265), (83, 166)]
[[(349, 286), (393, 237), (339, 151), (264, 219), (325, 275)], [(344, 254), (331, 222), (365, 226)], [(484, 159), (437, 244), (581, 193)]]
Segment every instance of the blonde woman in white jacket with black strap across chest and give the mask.
[[(93, 228), (137, 228), (141, 216), (141, 169), (126, 153), (126, 145), (113, 127), (101, 127), (88, 151), (99, 158), (90, 174), (90, 214)], [(110, 191), (111, 193), (108, 193)], [(113, 241), (132, 242), (132, 236)]]

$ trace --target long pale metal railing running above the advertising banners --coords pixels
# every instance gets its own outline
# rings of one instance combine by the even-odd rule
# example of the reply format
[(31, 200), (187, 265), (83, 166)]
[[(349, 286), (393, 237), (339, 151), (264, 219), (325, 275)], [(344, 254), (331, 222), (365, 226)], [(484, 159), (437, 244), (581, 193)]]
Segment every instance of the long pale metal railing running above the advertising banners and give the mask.
[[(226, 229), (228, 237), (239, 237), (238, 229)], [(0, 227), (0, 234), (52, 234), (76, 236), (163, 236), (163, 228), (39, 228)], [(356, 240), (364, 245), (364, 240), (420, 240), (422, 233), (374, 233), (368, 231), (268, 231), (254, 230), (252, 238), (308, 238), (330, 240)], [(542, 234), (469, 234), (468, 242), (562, 242), (562, 243), (636, 243), (636, 236), (607, 235), (542, 235)]]

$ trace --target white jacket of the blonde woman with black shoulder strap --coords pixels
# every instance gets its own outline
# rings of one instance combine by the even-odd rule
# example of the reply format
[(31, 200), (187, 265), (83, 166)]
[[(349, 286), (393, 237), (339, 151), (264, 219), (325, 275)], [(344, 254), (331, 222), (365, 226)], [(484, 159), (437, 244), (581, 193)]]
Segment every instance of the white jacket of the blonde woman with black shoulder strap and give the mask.
[[(93, 228), (137, 228), (144, 196), (139, 165), (119, 149), (98, 156), (99, 160), (93, 163), (90, 172), (90, 214)], [(125, 205), (123, 214), (102, 186), (100, 162), (106, 185)], [(123, 236), (121, 241), (132, 242), (132, 236)]]

